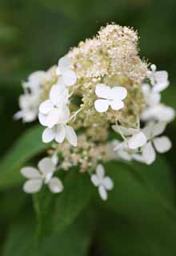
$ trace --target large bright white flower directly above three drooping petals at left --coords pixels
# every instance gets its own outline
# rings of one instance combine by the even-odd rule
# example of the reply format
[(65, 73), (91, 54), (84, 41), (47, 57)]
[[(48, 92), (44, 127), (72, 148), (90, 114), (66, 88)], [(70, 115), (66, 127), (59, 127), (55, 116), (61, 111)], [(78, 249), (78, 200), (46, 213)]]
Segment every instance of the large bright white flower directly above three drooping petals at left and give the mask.
[[(52, 128), (58, 122), (62, 122), (64, 116), (69, 112), (69, 91), (64, 86), (54, 85), (50, 90), (50, 98), (39, 106), (39, 122), (43, 126)], [(70, 113), (70, 112), (69, 112)]]

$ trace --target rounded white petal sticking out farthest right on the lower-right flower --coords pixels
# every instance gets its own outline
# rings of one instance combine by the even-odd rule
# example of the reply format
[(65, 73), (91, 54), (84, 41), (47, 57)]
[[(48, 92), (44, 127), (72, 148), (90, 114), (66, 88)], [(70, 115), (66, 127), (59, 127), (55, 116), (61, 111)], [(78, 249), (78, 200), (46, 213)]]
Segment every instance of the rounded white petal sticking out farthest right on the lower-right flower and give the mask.
[(158, 153), (165, 153), (170, 150), (172, 143), (170, 142), (169, 138), (162, 136), (159, 138), (154, 138), (154, 146)]

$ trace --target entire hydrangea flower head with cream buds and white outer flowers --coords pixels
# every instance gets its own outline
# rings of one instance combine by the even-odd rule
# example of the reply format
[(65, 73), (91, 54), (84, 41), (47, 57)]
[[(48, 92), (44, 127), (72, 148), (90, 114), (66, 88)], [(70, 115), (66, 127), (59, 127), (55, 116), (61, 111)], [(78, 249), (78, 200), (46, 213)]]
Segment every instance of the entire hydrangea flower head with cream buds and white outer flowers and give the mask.
[[(14, 117), (24, 122), (38, 117), (45, 126), (42, 141), (54, 141), (38, 170), (22, 168), (27, 193), (38, 192), (42, 184), (62, 192), (62, 181), (54, 174), (78, 166), (106, 200), (114, 184), (105, 175), (104, 162), (151, 164), (156, 151), (170, 150), (170, 139), (162, 133), (175, 110), (161, 103), (168, 74), (141, 60), (133, 29), (107, 25), (60, 58), (58, 66), (34, 72), (22, 86), (21, 110)], [(117, 139), (110, 140), (113, 132)]]

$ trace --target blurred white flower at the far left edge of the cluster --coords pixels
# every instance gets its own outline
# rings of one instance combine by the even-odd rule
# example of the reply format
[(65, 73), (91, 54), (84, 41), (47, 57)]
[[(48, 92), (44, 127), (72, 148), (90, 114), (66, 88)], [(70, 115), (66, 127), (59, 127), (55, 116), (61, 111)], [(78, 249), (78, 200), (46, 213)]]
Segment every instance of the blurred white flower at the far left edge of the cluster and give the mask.
[(19, 97), (19, 110), (14, 114), (14, 119), (20, 119), (24, 122), (33, 122), (38, 117), (39, 98), (36, 94), (22, 94)]

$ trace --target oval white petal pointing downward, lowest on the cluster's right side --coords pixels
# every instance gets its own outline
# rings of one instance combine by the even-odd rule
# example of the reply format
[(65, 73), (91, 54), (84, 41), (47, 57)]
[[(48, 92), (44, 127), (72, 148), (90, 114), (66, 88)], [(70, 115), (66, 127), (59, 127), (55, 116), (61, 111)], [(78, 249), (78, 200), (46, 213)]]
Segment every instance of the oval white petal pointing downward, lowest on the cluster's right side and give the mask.
[(148, 165), (154, 162), (156, 158), (156, 153), (154, 151), (154, 147), (152, 146), (151, 142), (146, 143), (146, 145), (142, 147), (142, 157), (146, 162), (146, 164)]

